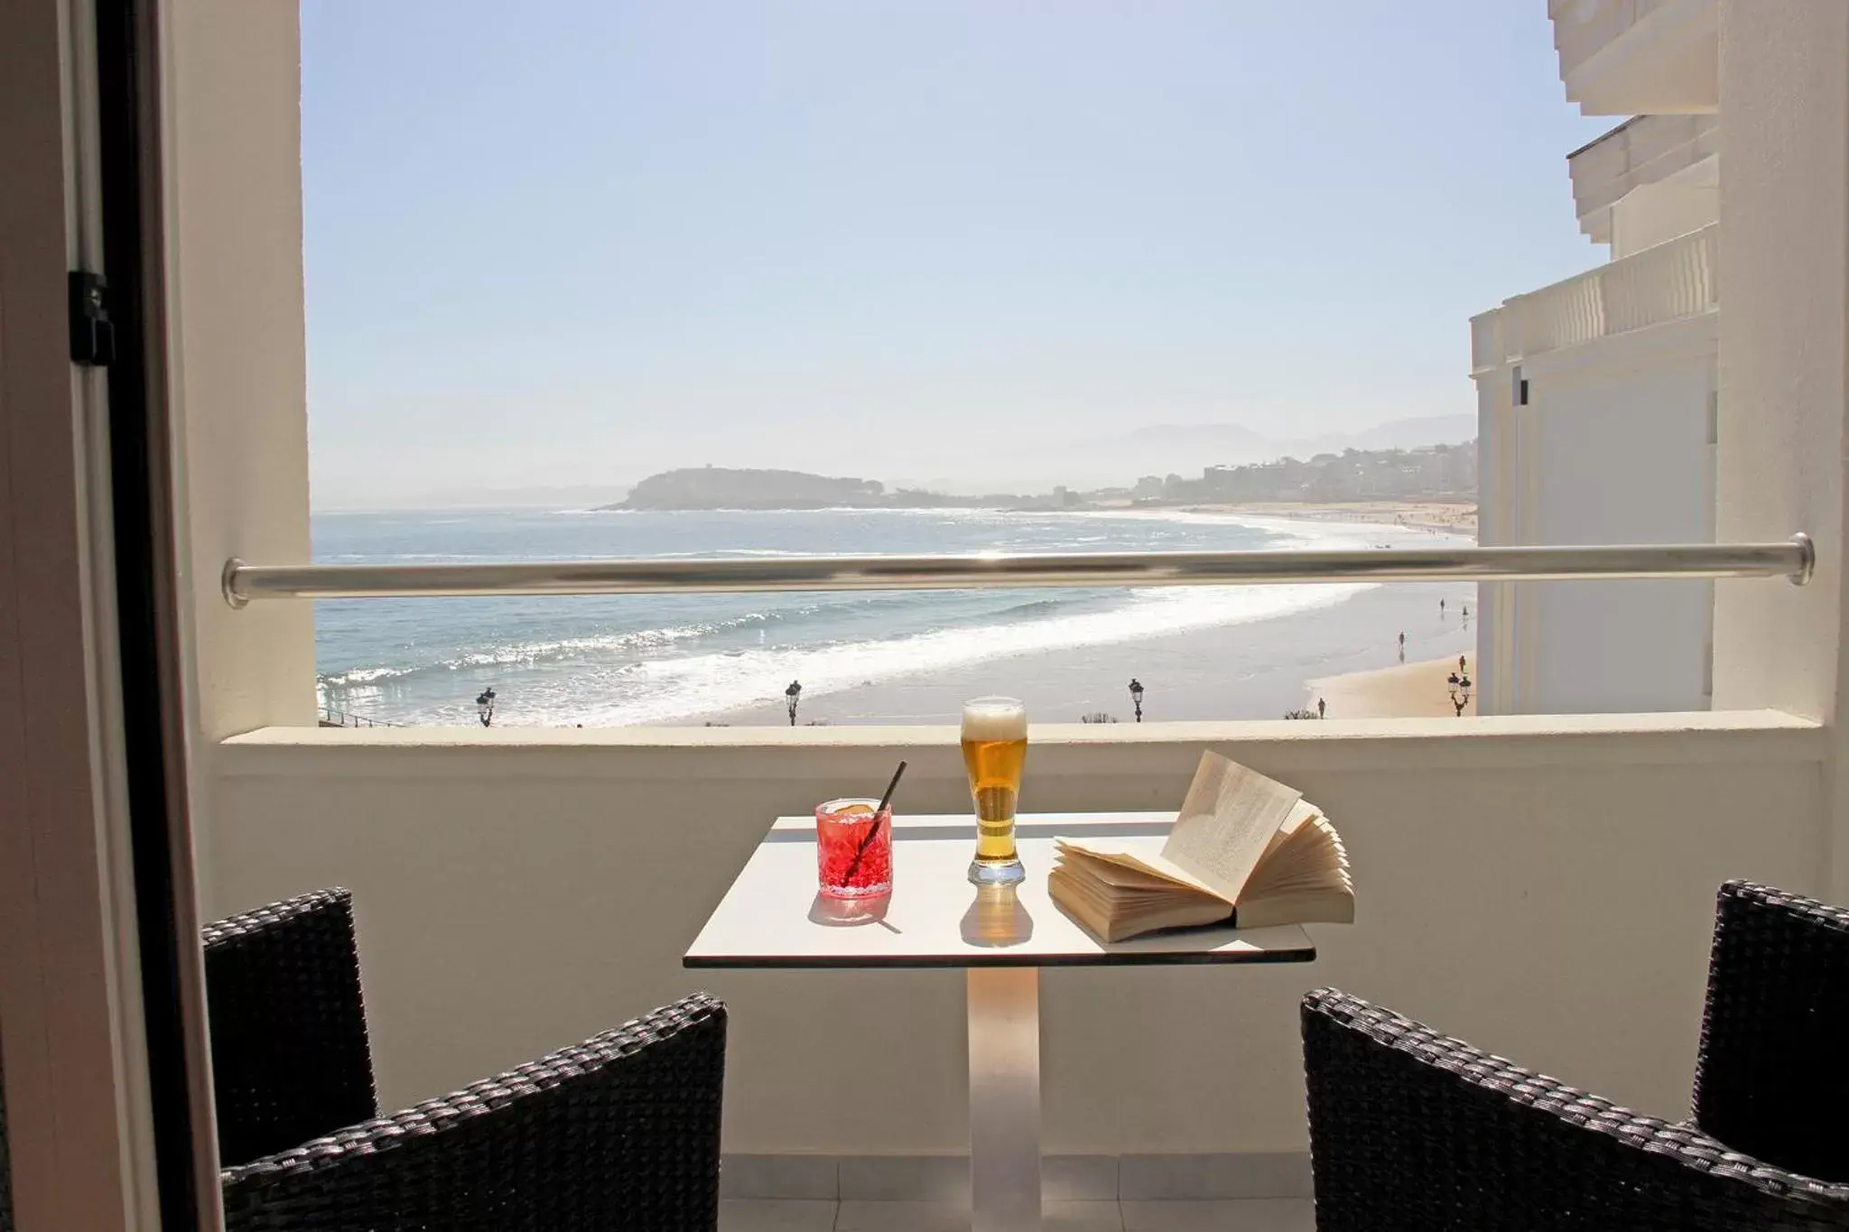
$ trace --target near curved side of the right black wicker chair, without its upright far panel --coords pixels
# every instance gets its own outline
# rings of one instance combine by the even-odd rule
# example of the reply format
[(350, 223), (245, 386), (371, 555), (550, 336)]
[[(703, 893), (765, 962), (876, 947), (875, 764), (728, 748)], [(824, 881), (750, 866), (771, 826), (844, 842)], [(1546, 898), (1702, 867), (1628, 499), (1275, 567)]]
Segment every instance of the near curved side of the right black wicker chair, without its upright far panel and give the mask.
[(1318, 1232), (1849, 1228), (1849, 1186), (1736, 1154), (1333, 988), (1304, 997)]

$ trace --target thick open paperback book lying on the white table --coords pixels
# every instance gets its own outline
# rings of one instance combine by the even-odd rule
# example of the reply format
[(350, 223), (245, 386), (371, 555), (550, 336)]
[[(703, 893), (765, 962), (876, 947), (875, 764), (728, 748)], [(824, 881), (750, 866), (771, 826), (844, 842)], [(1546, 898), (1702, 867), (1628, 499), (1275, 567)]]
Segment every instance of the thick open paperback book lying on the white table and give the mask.
[[(1159, 844), (1159, 846), (1157, 846)], [(1169, 839), (1056, 839), (1047, 888), (1106, 942), (1202, 924), (1353, 924), (1335, 827), (1302, 792), (1202, 754)]]

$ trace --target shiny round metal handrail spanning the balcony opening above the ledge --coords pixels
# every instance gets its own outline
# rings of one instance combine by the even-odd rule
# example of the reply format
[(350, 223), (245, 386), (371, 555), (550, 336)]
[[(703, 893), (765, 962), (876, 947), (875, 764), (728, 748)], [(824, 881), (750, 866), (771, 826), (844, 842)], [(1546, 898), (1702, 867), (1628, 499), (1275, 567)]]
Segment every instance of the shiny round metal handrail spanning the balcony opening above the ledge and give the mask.
[(1585, 578), (1810, 580), (1810, 537), (1784, 543), (1433, 547), (1316, 552), (1071, 552), (1032, 556), (797, 556), (551, 560), (481, 565), (248, 565), (226, 562), (233, 608), (253, 598), (433, 595), (660, 595), (917, 591), (1261, 582), (1538, 582)]

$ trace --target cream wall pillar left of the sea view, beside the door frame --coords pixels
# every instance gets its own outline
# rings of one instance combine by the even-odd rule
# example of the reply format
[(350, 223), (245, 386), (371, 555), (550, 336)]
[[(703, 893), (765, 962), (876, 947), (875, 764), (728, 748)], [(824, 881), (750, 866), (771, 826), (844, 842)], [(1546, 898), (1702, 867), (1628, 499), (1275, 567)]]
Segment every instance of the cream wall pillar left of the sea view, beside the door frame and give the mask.
[(181, 569), (202, 757), (314, 722), (314, 610), (231, 611), (231, 556), (309, 560), (298, 6), (172, 6), (170, 299), (185, 473)]

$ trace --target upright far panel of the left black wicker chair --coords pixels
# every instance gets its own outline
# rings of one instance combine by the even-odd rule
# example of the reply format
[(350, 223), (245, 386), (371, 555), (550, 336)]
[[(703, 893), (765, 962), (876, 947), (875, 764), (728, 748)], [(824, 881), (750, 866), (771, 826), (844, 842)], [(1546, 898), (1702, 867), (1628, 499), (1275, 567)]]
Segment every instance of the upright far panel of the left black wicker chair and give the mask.
[(246, 911), (202, 940), (220, 1166), (379, 1114), (346, 890)]

